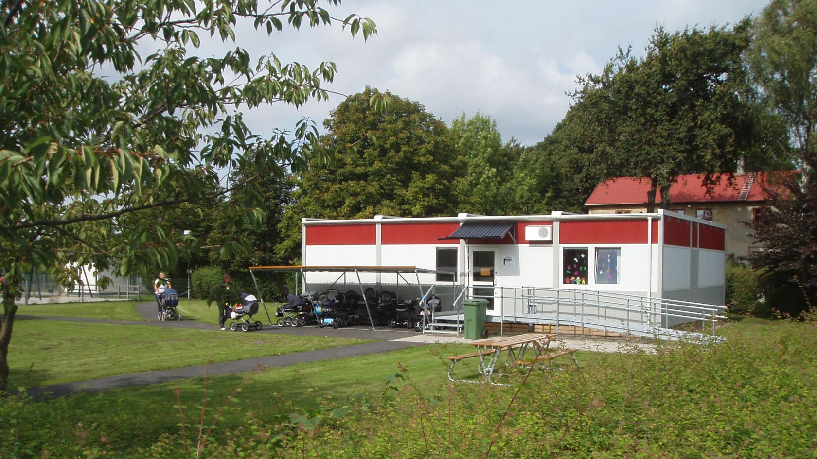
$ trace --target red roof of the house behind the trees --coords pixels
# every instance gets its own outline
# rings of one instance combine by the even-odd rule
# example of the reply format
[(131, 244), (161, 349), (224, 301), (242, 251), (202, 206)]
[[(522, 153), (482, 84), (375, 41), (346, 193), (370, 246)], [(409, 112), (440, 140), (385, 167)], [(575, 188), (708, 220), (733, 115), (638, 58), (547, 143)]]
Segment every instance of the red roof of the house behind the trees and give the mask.
[[(729, 185), (729, 174), (720, 175), (720, 183), (712, 187), (712, 193), (707, 193), (703, 185), (703, 175), (689, 174), (679, 176), (676, 183), (669, 189), (672, 203), (717, 203), (737, 202), (743, 185), (749, 176), (754, 176), (754, 183), (749, 189), (746, 199), (741, 201), (762, 202), (768, 200), (764, 185), (768, 183), (768, 172), (735, 175), (732, 185)], [(717, 178), (717, 176), (715, 176)], [(647, 192), (650, 191), (650, 180), (636, 177), (618, 177), (601, 182), (590, 194), (584, 203), (586, 206), (601, 206), (614, 204), (645, 204)], [(656, 193), (655, 202), (661, 202), (660, 191)]]

